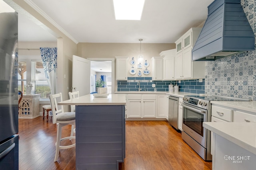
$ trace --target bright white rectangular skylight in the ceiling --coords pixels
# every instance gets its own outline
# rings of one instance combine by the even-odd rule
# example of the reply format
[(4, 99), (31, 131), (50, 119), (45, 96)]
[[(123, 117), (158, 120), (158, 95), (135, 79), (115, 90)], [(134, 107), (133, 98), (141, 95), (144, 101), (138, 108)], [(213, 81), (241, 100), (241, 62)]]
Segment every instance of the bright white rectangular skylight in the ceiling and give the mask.
[(113, 0), (116, 20), (140, 20), (145, 0)]

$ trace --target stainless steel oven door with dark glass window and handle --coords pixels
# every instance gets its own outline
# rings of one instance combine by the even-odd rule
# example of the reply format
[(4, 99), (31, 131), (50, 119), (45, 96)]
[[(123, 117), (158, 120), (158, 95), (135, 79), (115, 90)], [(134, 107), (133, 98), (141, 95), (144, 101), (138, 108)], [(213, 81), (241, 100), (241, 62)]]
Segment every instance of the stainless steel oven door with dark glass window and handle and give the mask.
[(182, 106), (182, 130), (206, 148), (206, 129), (203, 127), (203, 122), (207, 120), (207, 110), (184, 103)]

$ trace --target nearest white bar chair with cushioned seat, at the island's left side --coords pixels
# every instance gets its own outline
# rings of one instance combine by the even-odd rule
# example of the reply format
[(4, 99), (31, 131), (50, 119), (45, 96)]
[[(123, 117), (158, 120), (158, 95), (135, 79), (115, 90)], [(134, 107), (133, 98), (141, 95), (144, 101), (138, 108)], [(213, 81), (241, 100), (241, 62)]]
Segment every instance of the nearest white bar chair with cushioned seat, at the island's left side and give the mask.
[[(54, 157), (54, 162), (58, 160), (60, 149), (68, 149), (76, 146), (76, 143), (61, 146), (60, 141), (67, 139), (76, 139), (73, 136), (73, 129), (71, 129), (71, 135), (69, 137), (61, 138), (61, 129), (66, 125), (72, 125), (74, 127), (76, 123), (76, 113), (75, 112), (64, 112), (63, 105), (58, 107), (58, 102), (62, 102), (62, 94), (50, 94), (50, 102), (52, 106), (52, 123), (57, 123), (57, 139), (56, 139), (56, 152)], [(59, 109), (60, 108), (60, 109)]]

